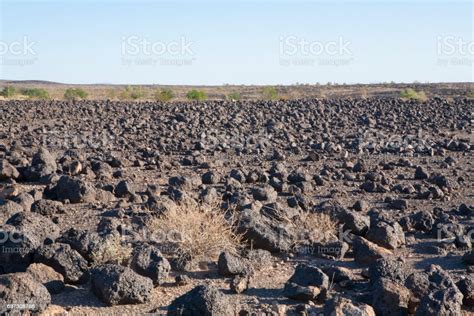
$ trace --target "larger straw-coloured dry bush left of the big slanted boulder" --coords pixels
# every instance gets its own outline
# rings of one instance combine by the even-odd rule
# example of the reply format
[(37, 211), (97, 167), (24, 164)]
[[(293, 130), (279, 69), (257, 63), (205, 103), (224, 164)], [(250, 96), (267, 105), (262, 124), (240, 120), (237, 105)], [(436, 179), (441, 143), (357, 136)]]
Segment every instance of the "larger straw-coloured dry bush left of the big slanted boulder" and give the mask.
[[(242, 236), (218, 205), (181, 202), (153, 220), (149, 229), (172, 249), (179, 263), (215, 261), (222, 251), (237, 252)], [(163, 237), (165, 240), (162, 240)]]

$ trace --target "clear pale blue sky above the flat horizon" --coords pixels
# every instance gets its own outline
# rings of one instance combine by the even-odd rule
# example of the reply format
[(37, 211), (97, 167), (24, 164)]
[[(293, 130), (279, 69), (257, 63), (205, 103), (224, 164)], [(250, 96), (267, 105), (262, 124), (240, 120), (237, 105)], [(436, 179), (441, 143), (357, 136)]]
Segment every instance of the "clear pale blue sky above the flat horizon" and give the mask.
[(473, 81), (472, 1), (0, 3), (2, 79)]

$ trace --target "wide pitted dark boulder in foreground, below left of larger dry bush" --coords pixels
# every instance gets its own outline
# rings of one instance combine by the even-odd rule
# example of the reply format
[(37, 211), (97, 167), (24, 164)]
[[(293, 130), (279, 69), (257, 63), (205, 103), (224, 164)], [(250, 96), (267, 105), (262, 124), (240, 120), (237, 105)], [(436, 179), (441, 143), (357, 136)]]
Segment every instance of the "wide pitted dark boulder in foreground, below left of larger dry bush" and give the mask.
[(96, 266), (91, 281), (94, 294), (109, 305), (145, 303), (153, 289), (151, 279), (115, 264)]

